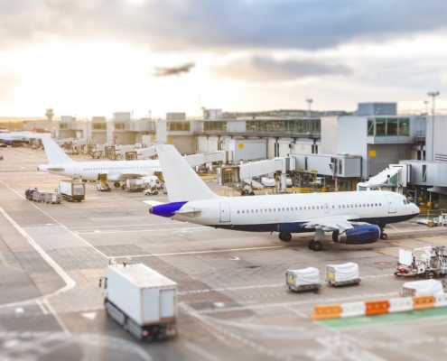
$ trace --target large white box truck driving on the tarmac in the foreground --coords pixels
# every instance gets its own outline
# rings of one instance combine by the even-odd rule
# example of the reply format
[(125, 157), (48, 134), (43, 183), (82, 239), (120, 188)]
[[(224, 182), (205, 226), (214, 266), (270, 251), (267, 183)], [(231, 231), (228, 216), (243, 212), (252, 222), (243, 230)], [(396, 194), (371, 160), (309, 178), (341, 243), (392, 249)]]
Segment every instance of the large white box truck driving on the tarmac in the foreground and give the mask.
[(177, 283), (146, 265), (109, 264), (104, 297), (107, 314), (135, 338), (177, 334)]

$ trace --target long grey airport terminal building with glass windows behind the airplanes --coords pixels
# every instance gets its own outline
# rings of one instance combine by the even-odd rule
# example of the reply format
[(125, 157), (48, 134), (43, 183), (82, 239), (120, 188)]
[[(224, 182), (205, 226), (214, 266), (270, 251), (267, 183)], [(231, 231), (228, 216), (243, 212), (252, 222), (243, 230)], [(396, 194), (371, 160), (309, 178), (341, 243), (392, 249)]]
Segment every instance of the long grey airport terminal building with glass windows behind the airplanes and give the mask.
[[(53, 122), (60, 138), (88, 138), (91, 143), (172, 143), (181, 153), (229, 151), (232, 165), (240, 162), (295, 158), (300, 184), (324, 177), (337, 190), (356, 190), (390, 164), (410, 164), (409, 187), (416, 194), (439, 198), (447, 207), (447, 116), (400, 115), (396, 103), (360, 103), (352, 114), (234, 116), (204, 109), (201, 118), (168, 113), (165, 119), (135, 120), (130, 112), (112, 119), (93, 116), (78, 120), (61, 116)], [(405, 190), (406, 190), (405, 185)]]

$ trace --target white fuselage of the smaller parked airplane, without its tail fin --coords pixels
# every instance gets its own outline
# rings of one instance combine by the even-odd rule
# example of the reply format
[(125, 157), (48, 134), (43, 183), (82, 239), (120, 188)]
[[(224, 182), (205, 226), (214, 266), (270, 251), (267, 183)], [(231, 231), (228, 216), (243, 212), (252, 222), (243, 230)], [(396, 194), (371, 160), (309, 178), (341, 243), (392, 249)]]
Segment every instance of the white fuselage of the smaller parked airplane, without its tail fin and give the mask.
[(79, 180), (98, 180), (98, 174), (107, 174), (107, 180), (123, 181), (137, 176), (153, 175), (161, 171), (158, 161), (107, 161), (107, 162), (63, 162), (45, 164), (39, 171), (48, 171)]

